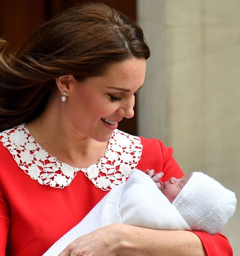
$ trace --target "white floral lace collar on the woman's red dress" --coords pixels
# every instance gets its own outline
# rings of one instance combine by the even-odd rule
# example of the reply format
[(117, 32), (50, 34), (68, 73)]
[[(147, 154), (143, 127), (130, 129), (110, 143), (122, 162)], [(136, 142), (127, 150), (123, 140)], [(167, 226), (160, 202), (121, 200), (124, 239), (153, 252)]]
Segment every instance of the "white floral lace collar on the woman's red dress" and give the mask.
[(77, 172), (82, 171), (97, 188), (110, 190), (126, 181), (142, 154), (140, 138), (117, 129), (113, 131), (104, 156), (82, 169), (71, 167), (48, 154), (24, 124), (1, 132), (0, 141), (33, 180), (60, 189), (68, 186)]

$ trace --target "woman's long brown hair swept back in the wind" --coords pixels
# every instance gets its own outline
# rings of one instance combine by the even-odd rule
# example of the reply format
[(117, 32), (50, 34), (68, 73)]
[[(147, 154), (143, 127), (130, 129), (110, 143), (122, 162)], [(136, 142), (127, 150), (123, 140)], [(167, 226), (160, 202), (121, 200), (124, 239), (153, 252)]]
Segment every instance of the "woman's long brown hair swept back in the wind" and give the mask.
[[(4, 48), (6, 42), (0, 39)], [(0, 54), (0, 131), (36, 118), (55, 78), (100, 76), (113, 62), (149, 57), (142, 29), (100, 3), (77, 5), (45, 22), (21, 49)]]

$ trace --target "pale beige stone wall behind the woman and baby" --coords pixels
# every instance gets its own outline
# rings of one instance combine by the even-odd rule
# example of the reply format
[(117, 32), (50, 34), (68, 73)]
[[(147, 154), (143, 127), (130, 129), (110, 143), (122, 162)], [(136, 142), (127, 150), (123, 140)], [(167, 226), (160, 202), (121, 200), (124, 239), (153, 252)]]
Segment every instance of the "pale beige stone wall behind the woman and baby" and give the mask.
[[(240, 200), (240, 1), (138, 0), (151, 49), (138, 95), (139, 135), (172, 147)], [(222, 233), (240, 255), (239, 205)]]

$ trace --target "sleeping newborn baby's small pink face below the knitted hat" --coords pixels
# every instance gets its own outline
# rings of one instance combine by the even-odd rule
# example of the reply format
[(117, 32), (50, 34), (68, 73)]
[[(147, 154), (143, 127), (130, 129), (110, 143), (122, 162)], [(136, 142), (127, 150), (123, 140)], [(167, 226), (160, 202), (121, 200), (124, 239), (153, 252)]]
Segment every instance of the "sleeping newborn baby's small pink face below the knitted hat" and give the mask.
[(161, 185), (160, 190), (166, 196), (166, 198), (172, 203), (179, 192), (182, 190), (184, 185), (190, 179), (191, 174), (188, 176), (183, 176), (180, 179), (171, 178), (170, 180), (166, 181)]

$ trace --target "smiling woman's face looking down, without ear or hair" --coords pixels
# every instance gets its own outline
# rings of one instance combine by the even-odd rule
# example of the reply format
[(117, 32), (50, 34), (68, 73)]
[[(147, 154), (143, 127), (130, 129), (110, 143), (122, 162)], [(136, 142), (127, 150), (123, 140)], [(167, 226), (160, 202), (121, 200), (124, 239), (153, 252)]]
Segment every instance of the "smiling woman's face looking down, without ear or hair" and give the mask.
[(69, 85), (63, 104), (77, 136), (108, 141), (123, 117), (134, 115), (135, 93), (145, 78), (145, 59), (130, 58), (111, 64), (106, 75)]

